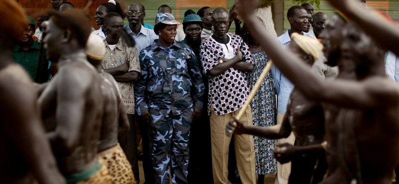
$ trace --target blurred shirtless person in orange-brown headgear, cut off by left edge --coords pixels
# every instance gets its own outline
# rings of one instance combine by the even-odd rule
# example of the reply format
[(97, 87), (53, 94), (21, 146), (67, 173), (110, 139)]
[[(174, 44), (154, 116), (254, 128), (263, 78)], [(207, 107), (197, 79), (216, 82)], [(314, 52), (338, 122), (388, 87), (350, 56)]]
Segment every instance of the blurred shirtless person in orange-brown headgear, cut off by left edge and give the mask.
[(4, 184), (64, 184), (41, 125), (29, 75), (11, 51), (28, 23), (14, 0), (1, 0), (0, 178)]

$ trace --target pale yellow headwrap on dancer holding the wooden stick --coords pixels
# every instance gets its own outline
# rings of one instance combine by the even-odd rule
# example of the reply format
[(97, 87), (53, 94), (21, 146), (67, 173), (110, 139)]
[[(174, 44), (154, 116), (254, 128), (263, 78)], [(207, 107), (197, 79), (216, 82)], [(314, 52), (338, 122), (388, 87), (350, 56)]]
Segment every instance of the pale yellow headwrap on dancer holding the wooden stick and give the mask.
[(323, 52), (323, 45), (312, 37), (292, 33), (291, 40), (298, 44), (306, 54), (313, 56), (315, 61), (319, 59), (320, 54)]

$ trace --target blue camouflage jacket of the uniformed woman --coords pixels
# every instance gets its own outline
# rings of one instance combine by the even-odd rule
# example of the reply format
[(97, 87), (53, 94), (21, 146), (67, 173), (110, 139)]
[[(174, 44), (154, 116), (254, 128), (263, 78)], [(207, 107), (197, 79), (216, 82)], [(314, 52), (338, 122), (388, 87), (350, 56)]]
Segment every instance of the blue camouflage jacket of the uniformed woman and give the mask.
[(140, 53), (141, 77), (134, 86), (136, 111), (141, 115), (149, 107), (174, 115), (181, 110), (202, 108), (200, 62), (187, 44), (175, 41), (168, 48), (158, 40)]

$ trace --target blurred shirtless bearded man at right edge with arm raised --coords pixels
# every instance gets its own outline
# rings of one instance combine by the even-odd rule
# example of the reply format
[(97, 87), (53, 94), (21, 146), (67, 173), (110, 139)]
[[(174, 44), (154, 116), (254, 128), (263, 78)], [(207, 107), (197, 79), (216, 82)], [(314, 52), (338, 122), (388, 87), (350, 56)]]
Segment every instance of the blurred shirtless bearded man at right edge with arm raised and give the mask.
[(262, 45), (275, 45), (266, 50), (295, 87), (309, 98), (337, 105), (336, 121), (328, 129), (338, 136), (326, 146), (329, 167), (336, 169), (321, 184), (389, 184), (399, 163), (399, 88), (385, 75), (386, 51), (350, 22), (342, 32), (340, 57), (356, 63), (357, 80), (323, 82), (297, 56), (282, 51), (260, 31), (253, 13), (258, 0), (240, 2), (245, 23), (255, 27), (251, 34), (259, 35)]

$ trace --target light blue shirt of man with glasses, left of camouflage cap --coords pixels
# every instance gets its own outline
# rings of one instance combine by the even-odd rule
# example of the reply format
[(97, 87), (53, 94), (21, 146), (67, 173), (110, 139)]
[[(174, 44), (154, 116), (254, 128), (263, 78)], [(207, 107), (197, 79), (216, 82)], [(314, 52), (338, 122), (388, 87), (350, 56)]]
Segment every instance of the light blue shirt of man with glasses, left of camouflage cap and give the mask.
[(140, 53), (146, 47), (152, 45), (154, 40), (158, 39), (158, 35), (155, 34), (154, 30), (145, 28), (143, 25), (140, 28), (140, 32), (136, 35), (132, 32), (129, 25), (125, 27), (126, 32), (133, 37), (134, 41), (136, 42), (137, 51)]

